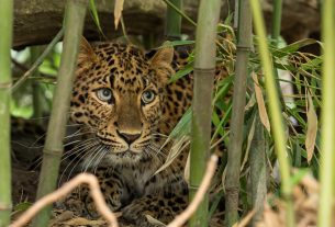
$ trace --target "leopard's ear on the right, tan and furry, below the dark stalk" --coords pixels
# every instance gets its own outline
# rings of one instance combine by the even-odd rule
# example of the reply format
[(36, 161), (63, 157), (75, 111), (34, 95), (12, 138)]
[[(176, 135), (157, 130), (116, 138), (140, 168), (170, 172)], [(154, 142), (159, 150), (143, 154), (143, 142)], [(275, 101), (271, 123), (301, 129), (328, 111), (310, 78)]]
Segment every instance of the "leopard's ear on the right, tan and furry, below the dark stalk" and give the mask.
[(163, 83), (167, 83), (175, 72), (171, 67), (172, 60), (172, 47), (161, 47), (157, 49), (155, 55), (150, 58), (150, 68), (156, 71), (159, 81)]

